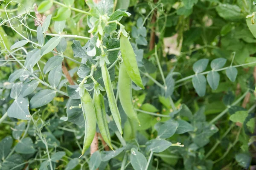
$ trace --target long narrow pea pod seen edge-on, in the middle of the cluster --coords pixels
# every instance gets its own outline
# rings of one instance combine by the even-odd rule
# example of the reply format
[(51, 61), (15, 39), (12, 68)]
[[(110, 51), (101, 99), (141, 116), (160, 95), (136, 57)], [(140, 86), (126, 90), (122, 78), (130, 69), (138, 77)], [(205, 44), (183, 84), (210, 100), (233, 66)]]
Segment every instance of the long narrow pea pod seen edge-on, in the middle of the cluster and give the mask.
[(111, 114), (113, 116), (113, 119), (116, 122), (116, 126), (122, 135), (121, 116), (120, 116), (120, 113), (119, 113), (117, 105), (116, 105), (116, 99), (115, 99), (114, 91), (112, 88), (108, 68), (107, 68), (106, 64), (104, 64), (101, 68), (102, 68), (102, 78), (103, 78), (105, 90), (106, 90), (106, 93), (108, 96), (109, 108), (110, 108)]

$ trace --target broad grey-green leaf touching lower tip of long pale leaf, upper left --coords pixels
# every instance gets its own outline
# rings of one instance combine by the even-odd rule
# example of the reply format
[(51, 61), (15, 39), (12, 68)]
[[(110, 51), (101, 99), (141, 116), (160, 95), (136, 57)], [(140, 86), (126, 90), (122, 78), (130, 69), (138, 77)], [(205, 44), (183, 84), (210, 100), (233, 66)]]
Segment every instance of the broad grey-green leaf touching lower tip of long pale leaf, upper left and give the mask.
[(36, 63), (41, 59), (40, 50), (34, 49), (32, 51), (29, 51), (27, 54), (26, 60), (25, 60), (25, 67), (28, 68), (28, 70), (32, 71), (33, 67), (36, 65)]

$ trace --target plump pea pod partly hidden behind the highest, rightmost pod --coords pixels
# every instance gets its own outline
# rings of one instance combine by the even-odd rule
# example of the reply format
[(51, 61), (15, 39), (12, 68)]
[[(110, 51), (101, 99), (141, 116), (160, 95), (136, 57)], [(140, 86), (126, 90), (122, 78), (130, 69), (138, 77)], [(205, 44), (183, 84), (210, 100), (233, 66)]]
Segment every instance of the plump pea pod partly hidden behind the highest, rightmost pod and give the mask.
[(119, 99), (126, 115), (131, 119), (140, 123), (137, 113), (134, 111), (131, 93), (131, 79), (126, 71), (125, 65), (122, 62), (119, 67), (118, 76), (118, 93)]

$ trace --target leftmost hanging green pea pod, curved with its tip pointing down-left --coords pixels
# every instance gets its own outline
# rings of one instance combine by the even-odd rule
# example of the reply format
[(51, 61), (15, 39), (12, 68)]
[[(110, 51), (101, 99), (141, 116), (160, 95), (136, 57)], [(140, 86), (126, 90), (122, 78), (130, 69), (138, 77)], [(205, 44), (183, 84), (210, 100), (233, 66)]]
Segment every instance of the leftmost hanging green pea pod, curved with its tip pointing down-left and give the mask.
[(93, 99), (91, 98), (88, 91), (85, 91), (84, 96), (81, 97), (81, 106), (85, 121), (84, 147), (82, 150), (82, 155), (84, 155), (85, 151), (90, 147), (90, 144), (93, 142), (93, 138), (96, 133), (95, 108), (93, 105)]

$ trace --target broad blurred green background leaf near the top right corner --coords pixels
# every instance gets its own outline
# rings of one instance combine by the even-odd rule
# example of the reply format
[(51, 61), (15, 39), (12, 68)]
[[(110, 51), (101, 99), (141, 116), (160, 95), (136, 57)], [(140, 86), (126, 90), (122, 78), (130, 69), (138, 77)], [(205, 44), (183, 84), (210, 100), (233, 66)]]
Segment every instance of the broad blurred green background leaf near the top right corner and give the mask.
[(219, 6), (216, 7), (216, 11), (225, 20), (239, 20), (243, 18), (241, 8), (236, 5), (220, 3)]

